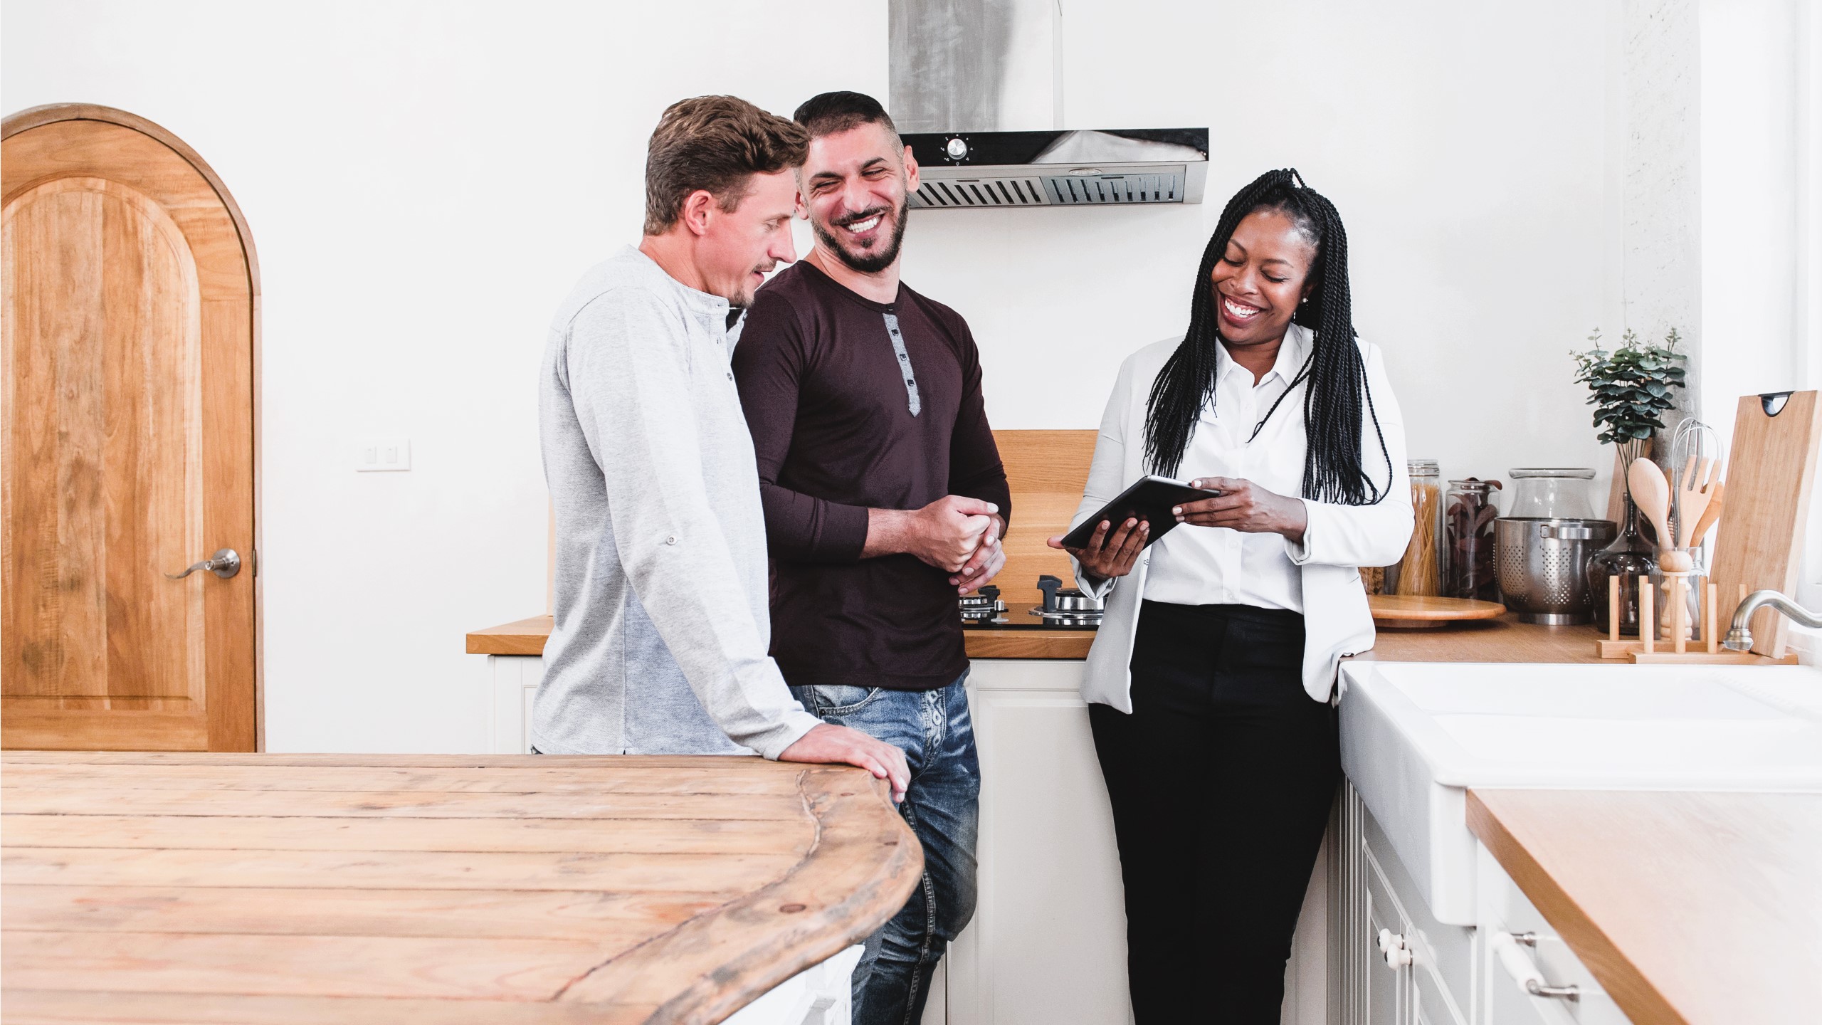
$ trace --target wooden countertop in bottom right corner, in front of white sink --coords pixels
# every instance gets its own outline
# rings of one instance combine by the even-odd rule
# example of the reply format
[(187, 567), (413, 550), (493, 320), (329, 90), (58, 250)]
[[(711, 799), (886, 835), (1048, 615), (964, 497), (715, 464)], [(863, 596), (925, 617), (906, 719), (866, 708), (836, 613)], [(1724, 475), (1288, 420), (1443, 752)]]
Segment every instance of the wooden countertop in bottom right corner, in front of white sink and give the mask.
[(1469, 826), (1634, 1025), (1822, 1007), (1822, 795), (1470, 790)]

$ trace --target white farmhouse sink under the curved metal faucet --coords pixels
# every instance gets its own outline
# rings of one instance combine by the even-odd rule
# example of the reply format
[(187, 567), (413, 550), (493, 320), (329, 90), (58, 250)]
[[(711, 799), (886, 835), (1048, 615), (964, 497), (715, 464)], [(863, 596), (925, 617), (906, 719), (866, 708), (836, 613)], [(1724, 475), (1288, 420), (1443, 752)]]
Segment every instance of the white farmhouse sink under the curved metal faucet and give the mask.
[(1348, 662), (1341, 766), (1427, 890), (1474, 925), (1467, 788), (1822, 793), (1822, 671)]

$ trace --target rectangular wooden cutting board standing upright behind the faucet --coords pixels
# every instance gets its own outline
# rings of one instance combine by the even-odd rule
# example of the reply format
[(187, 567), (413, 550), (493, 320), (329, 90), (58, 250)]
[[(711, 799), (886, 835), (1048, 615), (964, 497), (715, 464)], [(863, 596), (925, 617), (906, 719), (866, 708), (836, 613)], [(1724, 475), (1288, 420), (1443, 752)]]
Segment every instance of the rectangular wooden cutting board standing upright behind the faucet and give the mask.
[[(1780, 407), (1776, 399), (1786, 394)], [(1817, 392), (1740, 398), (1713, 571), (1715, 584), (1720, 585), (1722, 622), (1738, 606), (1742, 584), (1749, 593), (1764, 587), (1796, 593), (1818, 443), (1822, 403), (1817, 401)], [(1753, 651), (1782, 657), (1787, 626), (1771, 609), (1755, 616)]]

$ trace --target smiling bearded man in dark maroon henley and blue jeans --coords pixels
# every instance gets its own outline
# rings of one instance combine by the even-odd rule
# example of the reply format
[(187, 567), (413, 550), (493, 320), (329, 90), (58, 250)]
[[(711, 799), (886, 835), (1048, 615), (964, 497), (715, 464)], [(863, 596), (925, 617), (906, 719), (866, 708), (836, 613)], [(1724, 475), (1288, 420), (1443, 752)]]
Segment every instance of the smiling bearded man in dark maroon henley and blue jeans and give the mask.
[(898, 744), (924, 885), (867, 941), (856, 1025), (918, 1021), (975, 910), (980, 764), (957, 596), (1006, 562), (1006, 471), (967, 323), (898, 281), (916, 160), (880, 104), (824, 93), (798, 190), (816, 243), (760, 288), (734, 378), (760, 465), (773, 658), (827, 722)]

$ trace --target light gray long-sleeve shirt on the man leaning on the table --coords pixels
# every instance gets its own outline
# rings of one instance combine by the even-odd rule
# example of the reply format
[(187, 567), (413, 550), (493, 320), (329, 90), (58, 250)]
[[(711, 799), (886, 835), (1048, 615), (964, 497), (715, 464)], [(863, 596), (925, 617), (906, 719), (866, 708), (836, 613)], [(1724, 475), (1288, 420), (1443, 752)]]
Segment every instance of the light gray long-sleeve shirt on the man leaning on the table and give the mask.
[(539, 751), (776, 759), (818, 722), (767, 657), (765, 520), (727, 314), (627, 248), (550, 325), (537, 412), (556, 627), (532, 704)]

